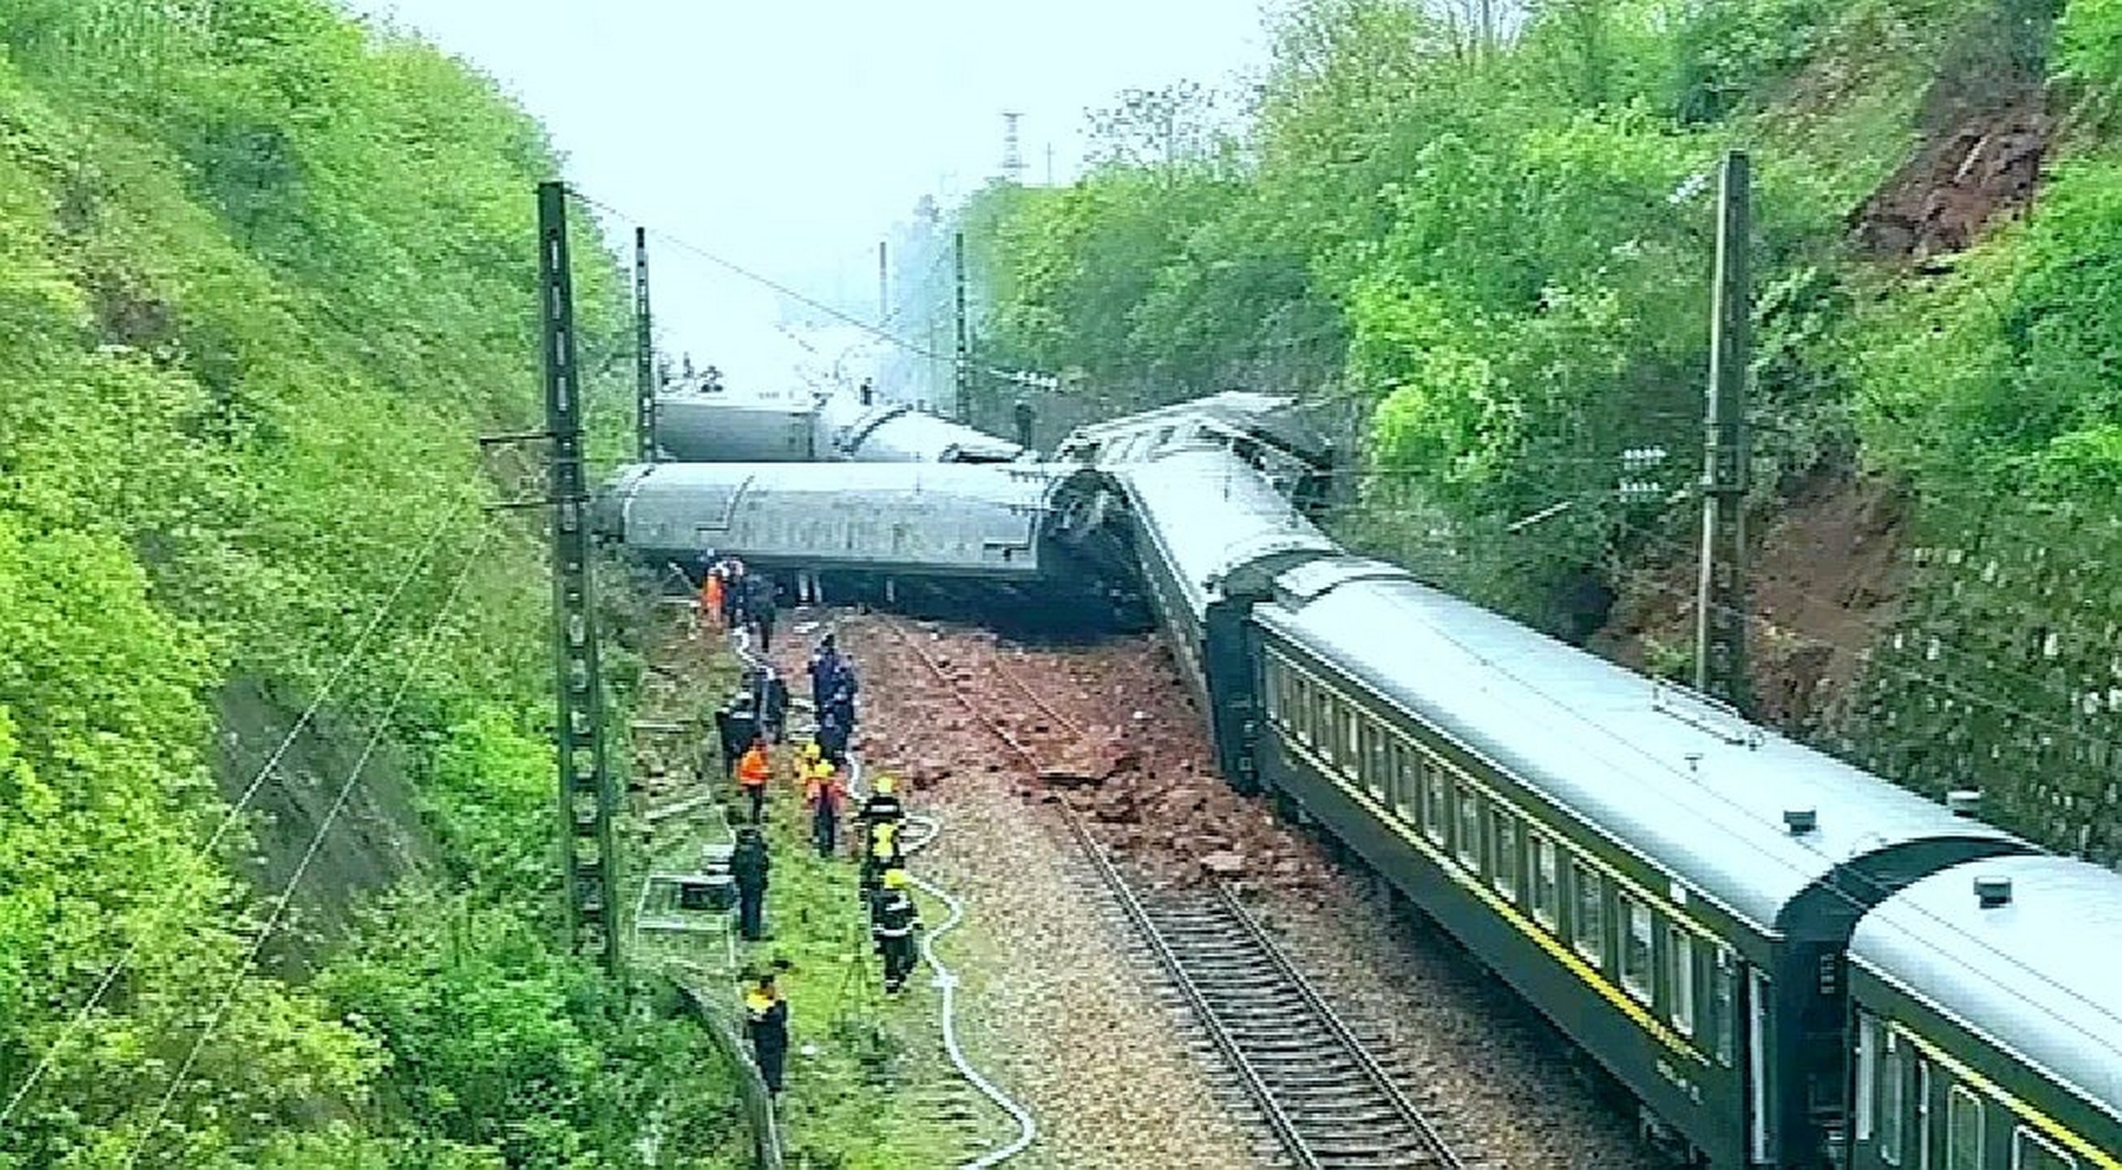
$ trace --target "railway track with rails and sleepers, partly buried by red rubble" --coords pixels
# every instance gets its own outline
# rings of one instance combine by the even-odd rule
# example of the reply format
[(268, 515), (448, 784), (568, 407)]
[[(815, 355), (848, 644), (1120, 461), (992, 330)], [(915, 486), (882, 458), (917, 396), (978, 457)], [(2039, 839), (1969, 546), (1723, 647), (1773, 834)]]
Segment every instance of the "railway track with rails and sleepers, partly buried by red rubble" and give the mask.
[[(1044, 764), (1033, 743), (1027, 743), (1029, 737), (982, 711), (966, 694), (961, 677), (936, 663), (919, 639), (898, 622), (885, 626), (995, 739), (1033, 771)], [(1057, 711), (999, 663), (993, 665), (993, 675), (1019, 690), (1048, 720), (1048, 728), (1082, 735), (1076, 720)], [(1084, 858), (1290, 1164), (1466, 1166), (1229, 888), (1142, 894), (1082, 818), (1067, 805), (1059, 807)]]

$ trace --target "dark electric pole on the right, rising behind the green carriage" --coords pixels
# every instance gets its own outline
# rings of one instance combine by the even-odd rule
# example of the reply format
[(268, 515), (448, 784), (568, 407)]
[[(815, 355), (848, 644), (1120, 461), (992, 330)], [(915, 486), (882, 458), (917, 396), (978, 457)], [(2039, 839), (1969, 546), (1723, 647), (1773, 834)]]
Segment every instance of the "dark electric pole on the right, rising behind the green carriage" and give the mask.
[(1702, 457), (1702, 575), (1695, 582), (1695, 690), (1738, 709), (1746, 686), (1746, 367), (1753, 295), (1746, 155), (1723, 159), (1717, 197), (1717, 285), (1710, 306), (1710, 395)]

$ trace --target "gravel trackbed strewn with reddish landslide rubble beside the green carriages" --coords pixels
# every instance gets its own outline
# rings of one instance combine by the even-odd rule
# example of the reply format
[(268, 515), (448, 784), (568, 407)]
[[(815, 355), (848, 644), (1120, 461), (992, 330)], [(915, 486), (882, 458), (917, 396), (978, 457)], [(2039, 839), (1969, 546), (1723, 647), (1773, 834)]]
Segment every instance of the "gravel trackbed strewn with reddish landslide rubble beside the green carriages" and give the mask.
[[(1040, 1111), (1048, 1157), (1280, 1157), (1214, 1045), (1163, 990), (1154, 958), (1099, 894), (1063, 820), (1076, 818), (1148, 896), (1239, 890), (1471, 1162), (1657, 1166), (1602, 1074), (1564, 1055), (1534, 1011), (1360, 868), (1214, 773), (1159, 639), (1031, 648), (864, 616), (842, 620), (840, 641), (876, 679), (866, 696), (870, 767), (898, 769), (957, 826), (934, 864), (985, 919), (976, 966), (987, 981), (968, 977), (968, 998), (1004, 1009), (976, 1017), (974, 1047)], [(1146, 1060), (1173, 1047), (1190, 1060)]]

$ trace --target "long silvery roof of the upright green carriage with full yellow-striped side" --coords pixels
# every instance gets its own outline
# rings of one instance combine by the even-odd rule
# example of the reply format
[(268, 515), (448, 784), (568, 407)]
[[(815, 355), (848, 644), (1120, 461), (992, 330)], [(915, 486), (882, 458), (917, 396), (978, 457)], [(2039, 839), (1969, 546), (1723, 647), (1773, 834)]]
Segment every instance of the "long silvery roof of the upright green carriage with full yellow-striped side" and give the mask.
[[(1333, 582), (1326, 575), (1339, 573)], [(1307, 578), (1309, 575), (1309, 578)], [(1710, 701), (1570, 648), (1405, 573), (1292, 573), (1256, 616), (1386, 701), (1776, 932), (1844, 862), (1918, 841), (2024, 847)], [(1305, 584), (1314, 588), (1303, 588)], [(1793, 835), (1787, 811), (1810, 811)]]

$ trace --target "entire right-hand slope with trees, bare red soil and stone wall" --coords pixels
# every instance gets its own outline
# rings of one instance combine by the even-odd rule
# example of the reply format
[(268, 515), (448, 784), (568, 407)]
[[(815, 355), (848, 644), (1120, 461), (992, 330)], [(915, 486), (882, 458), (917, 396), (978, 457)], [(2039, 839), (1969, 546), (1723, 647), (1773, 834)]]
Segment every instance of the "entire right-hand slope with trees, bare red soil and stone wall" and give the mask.
[[(1712, 168), (1744, 147), (1768, 711), (2122, 856), (2122, 580), (2101, 567), (2122, 546), (2122, 8), (1519, 8), (1481, 36), (1415, 0), (1299, 0), (1235, 115), (1184, 85), (1123, 96), (1080, 180), (963, 210), (982, 361), (1061, 374), (1057, 416), (1305, 393), (1358, 450), (1354, 544), (1570, 637), (1647, 633), (1672, 665)], [(1628, 471), (1630, 448), (1672, 457)]]

